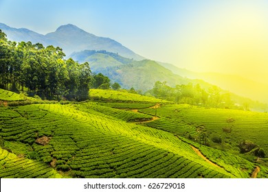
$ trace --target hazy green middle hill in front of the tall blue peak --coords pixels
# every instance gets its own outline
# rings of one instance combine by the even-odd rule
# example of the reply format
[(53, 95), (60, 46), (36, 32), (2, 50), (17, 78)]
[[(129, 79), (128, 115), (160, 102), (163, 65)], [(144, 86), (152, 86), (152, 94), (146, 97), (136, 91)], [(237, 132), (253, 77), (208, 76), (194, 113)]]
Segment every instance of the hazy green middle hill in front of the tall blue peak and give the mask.
[(153, 60), (131, 60), (108, 51), (80, 51), (71, 54), (71, 58), (78, 62), (89, 62), (93, 73), (107, 75), (113, 82), (121, 84), (122, 88), (131, 88), (148, 91), (155, 82), (167, 82), (169, 86), (177, 84), (209, 85), (202, 80), (190, 80), (162, 67)]

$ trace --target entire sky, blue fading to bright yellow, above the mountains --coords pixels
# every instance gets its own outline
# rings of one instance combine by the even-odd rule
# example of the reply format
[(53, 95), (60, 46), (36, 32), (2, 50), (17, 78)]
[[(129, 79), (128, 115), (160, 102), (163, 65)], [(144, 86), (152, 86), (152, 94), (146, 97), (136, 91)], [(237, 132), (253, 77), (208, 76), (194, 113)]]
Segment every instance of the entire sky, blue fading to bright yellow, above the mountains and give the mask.
[(74, 24), (151, 60), (268, 82), (265, 0), (0, 0), (0, 23), (40, 34)]

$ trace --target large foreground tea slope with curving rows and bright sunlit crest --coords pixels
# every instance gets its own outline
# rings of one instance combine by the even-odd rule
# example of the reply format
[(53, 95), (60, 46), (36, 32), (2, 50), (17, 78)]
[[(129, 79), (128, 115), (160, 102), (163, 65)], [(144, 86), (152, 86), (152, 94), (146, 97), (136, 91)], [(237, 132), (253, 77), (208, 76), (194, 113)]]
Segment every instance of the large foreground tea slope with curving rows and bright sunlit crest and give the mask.
[(150, 116), (118, 112), (91, 102), (32, 104), (2, 107), (0, 111), (3, 145), (14, 141), (30, 145), (43, 162), (65, 176), (247, 178), (254, 168), (245, 162), (243, 167), (247, 171), (225, 163), (216, 167), (203, 160), (183, 138), (126, 123), (130, 115), (134, 120)]

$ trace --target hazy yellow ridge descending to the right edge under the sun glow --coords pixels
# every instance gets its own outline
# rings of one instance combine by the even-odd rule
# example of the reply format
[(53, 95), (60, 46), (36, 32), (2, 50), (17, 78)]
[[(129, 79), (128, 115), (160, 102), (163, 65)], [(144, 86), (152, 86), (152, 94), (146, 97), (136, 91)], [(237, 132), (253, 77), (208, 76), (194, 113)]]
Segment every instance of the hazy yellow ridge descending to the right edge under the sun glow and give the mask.
[(237, 95), (243, 95), (244, 97), (268, 103), (268, 84), (249, 80), (239, 75), (197, 73), (187, 69), (181, 69), (164, 62), (159, 62), (159, 64), (166, 69), (170, 69), (173, 73), (181, 75), (182, 77), (204, 80), (205, 82), (220, 86), (221, 88), (232, 93), (236, 93)]

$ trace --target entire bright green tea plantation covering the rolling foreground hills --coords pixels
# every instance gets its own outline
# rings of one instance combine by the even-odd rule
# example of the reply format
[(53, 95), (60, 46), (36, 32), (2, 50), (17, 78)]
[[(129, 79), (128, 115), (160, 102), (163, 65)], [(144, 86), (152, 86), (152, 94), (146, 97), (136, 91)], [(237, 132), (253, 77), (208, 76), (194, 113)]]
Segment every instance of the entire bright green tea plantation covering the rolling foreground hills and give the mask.
[[(241, 112), (240, 117), (245, 117), (243, 111), (165, 104), (129, 93), (116, 99), (122, 94), (116, 91), (92, 93), (115, 102), (0, 107), (0, 178), (250, 178), (256, 166), (260, 167), (257, 177), (268, 178), (265, 164), (194, 142), (197, 127), (221, 134), (219, 129), (230, 115), (236, 119), (234, 127), (240, 128), (235, 115)], [(158, 103), (159, 119), (153, 121), (155, 108), (150, 107)], [(266, 117), (245, 113), (252, 115), (252, 121)], [(213, 114), (218, 127), (209, 126)], [(202, 121), (203, 115), (207, 119)], [(220, 123), (223, 120), (225, 124)], [(258, 145), (266, 150), (265, 141)]]

